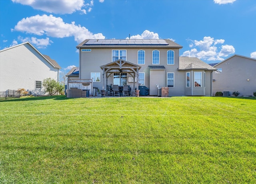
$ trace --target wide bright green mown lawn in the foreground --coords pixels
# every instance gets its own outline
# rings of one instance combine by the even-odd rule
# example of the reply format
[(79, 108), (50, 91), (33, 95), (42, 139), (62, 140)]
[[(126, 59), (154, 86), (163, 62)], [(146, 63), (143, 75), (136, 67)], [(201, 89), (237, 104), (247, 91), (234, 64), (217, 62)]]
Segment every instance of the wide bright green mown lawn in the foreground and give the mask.
[(255, 98), (0, 102), (0, 183), (256, 183)]

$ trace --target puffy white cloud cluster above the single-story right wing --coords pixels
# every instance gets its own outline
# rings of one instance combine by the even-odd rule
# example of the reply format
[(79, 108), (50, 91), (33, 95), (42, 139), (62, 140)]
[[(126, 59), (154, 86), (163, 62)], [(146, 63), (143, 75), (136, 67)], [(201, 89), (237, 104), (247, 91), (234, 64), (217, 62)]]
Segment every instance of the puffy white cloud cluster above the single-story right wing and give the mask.
[[(222, 57), (227, 57), (230, 54), (235, 53), (235, 48), (232, 45), (221, 45), (217, 47), (218, 44), (223, 44), (224, 39), (214, 39), (212, 37), (204, 37), (203, 40), (191, 40), (192, 43), (189, 47), (192, 48), (190, 51), (185, 51), (182, 56), (188, 57), (198, 57), (199, 59), (207, 61), (222, 61)], [(220, 51), (218, 51), (220, 49)]]

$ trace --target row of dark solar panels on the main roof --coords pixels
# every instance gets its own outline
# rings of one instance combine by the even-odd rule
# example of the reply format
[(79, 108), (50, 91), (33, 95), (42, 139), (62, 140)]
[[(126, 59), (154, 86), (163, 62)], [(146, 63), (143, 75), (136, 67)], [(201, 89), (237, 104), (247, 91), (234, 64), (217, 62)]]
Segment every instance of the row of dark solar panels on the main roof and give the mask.
[(168, 45), (164, 39), (90, 39), (84, 45)]

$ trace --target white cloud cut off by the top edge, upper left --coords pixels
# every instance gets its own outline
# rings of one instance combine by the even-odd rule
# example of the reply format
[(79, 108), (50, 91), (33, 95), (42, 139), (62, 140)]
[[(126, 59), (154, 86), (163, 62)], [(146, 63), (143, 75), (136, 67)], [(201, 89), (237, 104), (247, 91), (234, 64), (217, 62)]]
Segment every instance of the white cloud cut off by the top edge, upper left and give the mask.
[(90, 8), (93, 6), (93, 1), (90, 4), (84, 4), (84, 0), (12, 0), (12, 2), (54, 14), (72, 14), (76, 11), (86, 14), (86, 10), (82, 7)]

